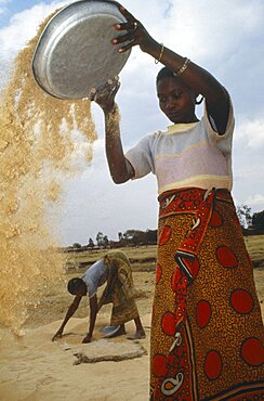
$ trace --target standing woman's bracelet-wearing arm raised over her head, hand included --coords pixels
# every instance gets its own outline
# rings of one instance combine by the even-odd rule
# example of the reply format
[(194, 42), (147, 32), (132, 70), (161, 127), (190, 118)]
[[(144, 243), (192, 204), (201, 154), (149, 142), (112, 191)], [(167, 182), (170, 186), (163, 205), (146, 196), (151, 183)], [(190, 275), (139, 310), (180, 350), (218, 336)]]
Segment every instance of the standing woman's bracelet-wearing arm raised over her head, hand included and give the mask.
[[(223, 133), (229, 114), (229, 98), (225, 88), (204, 68), (158, 43), (142, 23), (126, 9), (121, 7), (120, 11), (128, 22), (115, 25), (116, 30), (127, 31), (113, 39), (113, 44), (118, 44), (118, 51), (124, 52), (138, 44), (143, 52), (174, 72), (175, 76), (181, 77), (197, 96), (199, 94), (204, 96), (208, 113), (214, 119), (219, 132)], [(120, 48), (120, 43), (124, 43), (123, 47)]]

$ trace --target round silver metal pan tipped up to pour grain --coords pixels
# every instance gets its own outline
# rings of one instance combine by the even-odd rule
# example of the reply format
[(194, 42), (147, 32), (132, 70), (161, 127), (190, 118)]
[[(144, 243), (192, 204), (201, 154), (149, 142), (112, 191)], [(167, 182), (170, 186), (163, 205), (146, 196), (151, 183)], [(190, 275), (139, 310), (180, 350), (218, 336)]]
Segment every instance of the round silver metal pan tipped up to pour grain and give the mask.
[(34, 77), (45, 92), (60, 99), (87, 98), (91, 88), (120, 73), (130, 51), (119, 53), (111, 44), (119, 36), (114, 24), (126, 22), (118, 5), (76, 1), (50, 20), (32, 57)]

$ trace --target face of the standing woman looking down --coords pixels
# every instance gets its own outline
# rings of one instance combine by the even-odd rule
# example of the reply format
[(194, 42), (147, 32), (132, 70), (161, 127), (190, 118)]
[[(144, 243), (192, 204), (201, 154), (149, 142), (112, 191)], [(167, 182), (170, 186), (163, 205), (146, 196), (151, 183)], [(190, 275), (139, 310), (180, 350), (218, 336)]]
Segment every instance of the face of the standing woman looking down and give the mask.
[(159, 107), (174, 124), (197, 121), (195, 93), (181, 79), (161, 78), (157, 83)]

